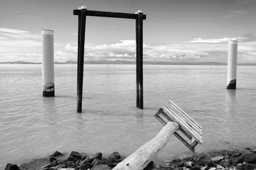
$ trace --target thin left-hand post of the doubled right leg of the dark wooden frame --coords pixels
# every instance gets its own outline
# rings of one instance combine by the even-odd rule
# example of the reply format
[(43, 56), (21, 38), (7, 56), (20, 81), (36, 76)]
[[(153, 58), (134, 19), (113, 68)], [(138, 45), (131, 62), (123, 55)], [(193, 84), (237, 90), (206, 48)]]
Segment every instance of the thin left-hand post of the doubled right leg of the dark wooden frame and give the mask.
[[(138, 15), (138, 12), (135, 14)], [(136, 107), (140, 106), (139, 90), (139, 37), (138, 37), (138, 16), (136, 17)]]

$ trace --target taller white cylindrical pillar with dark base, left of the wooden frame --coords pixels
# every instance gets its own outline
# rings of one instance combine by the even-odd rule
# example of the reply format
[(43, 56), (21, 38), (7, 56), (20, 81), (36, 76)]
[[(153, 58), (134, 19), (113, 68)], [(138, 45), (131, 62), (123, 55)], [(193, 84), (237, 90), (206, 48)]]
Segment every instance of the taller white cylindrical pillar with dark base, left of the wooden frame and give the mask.
[(54, 47), (53, 31), (42, 30), (43, 96), (54, 97)]

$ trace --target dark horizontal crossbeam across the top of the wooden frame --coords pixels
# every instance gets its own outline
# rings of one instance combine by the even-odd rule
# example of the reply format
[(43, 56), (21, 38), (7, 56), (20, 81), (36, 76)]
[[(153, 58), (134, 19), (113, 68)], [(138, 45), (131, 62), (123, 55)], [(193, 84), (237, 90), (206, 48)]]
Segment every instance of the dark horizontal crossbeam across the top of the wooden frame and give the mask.
[[(81, 10), (73, 10), (73, 15), (81, 15)], [(136, 19), (138, 17), (138, 15), (135, 13), (120, 13), (120, 12), (92, 11), (92, 10), (86, 10), (86, 16), (127, 18), (127, 19)], [(143, 20), (145, 20), (146, 15), (143, 15), (142, 18)]]

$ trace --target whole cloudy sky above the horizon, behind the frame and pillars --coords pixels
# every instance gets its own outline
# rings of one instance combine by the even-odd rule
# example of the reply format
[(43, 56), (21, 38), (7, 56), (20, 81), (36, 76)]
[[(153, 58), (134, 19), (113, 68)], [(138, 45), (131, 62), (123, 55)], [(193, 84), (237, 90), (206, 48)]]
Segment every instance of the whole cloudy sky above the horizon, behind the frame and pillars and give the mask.
[[(73, 10), (142, 10), (143, 60), (256, 63), (256, 0), (0, 0), (0, 62), (42, 62), (41, 30), (54, 30), (54, 61), (77, 60)], [(86, 17), (84, 60), (135, 61), (135, 20)]]

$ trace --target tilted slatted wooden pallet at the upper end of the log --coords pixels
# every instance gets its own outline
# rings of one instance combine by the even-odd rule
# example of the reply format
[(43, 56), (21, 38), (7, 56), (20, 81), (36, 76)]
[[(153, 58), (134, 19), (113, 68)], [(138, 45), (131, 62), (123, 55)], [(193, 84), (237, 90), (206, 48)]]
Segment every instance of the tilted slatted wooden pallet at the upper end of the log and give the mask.
[(168, 101), (157, 111), (155, 117), (163, 125), (166, 125), (168, 122), (179, 124), (179, 131), (174, 132), (174, 135), (192, 152), (195, 152), (195, 146), (198, 143), (203, 144), (202, 127), (172, 101)]

